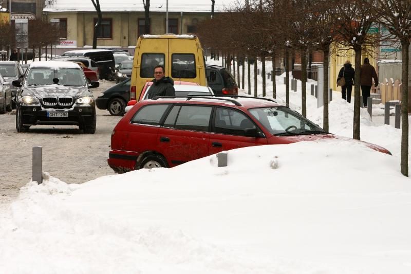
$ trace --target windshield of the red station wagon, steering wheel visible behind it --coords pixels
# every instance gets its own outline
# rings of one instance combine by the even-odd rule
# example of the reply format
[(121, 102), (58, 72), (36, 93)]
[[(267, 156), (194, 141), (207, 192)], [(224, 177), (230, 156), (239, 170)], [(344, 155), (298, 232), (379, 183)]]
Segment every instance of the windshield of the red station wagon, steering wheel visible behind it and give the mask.
[(285, 106), (251, 108), (249, 111), (274, 135), (325, 133), (321, 127)]

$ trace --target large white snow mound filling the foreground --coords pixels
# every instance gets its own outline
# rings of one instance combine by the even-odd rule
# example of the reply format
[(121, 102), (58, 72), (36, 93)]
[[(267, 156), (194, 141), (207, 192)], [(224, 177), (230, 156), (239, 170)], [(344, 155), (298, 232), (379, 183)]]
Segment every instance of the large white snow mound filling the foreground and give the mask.
[(338, 140), (50, 176), (0, 226), (0, 273), (409, 273), (410, 198), (397, 158)]

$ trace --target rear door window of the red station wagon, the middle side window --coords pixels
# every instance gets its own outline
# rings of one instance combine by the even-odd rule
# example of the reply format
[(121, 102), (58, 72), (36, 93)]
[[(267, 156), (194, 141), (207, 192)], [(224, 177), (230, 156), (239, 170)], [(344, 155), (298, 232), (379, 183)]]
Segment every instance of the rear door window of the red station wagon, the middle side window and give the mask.
[(174, 106), (164, 126), (179, 130), (209, 131), (212, 106)]

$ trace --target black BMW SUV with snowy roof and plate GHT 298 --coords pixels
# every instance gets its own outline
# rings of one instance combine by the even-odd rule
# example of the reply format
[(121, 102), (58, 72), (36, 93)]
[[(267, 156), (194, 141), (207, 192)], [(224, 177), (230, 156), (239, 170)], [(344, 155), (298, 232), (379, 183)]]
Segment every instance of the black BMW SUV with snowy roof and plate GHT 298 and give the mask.
[(78, 125), (84, 133), (96, 132), (96, 101), (83, 70), (73, 62), (33, 62), (23, 80), (13, 81), (16, 96), (16, 129), (32, 125)]

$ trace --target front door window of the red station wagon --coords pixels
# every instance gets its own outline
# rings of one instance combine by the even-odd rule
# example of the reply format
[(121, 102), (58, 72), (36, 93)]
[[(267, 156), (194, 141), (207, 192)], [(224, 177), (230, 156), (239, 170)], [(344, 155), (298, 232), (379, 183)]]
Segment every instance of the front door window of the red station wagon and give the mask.
[(246, 129), (255, 129), (256, 126), (245, 114), (235, 109), (217, 107), (214, 119), (214, 132), (245, 136)]

